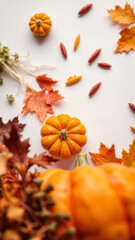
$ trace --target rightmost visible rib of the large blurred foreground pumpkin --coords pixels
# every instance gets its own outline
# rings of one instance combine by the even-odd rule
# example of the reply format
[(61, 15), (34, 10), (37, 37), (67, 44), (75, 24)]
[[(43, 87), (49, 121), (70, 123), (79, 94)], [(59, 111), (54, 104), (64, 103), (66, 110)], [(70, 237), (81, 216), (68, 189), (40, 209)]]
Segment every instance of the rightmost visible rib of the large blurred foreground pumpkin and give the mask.
[[(121, 204), (127, 217), (130, 239), (135, 238), (135, 171), (122, 167), (120, 164), (105, 164), (101, 166), (110, 179), (113, 187), (121, 199)], [(115, 172), (114, 172), (115, 168)], [(117, 171), (117, 174), (115, 174)], [(128, 183), (128, 184), (127, 184)]]

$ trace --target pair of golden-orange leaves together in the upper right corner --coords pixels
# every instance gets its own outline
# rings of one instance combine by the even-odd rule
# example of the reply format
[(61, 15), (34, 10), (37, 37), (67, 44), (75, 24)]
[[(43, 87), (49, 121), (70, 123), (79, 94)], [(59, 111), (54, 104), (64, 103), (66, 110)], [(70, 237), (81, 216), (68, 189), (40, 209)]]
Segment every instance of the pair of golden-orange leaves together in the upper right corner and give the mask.
[[(126, 3), (125, 8), (119, 5), (115, 10), (108, 10), (111, 19), (119, 24), (130, 25), (135, 23), (135, 13), (130, 4)], [(129, 52), (135, 49), (135, 26), (125, 27), (120, 31), (121, 38), (118, 40), (118, 46), (115, 50), (116, 53)]]

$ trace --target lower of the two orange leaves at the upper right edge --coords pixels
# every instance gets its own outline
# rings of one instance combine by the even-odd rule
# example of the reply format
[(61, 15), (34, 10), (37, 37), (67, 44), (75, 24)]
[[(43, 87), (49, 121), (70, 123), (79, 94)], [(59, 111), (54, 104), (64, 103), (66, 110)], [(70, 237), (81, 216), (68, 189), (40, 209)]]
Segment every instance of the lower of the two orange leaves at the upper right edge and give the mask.
[(118, 40), (118, 47), (116, 53), (129, 52), (135, 49), (135, 26), (124, 28), (120, 32), (121, 38)]

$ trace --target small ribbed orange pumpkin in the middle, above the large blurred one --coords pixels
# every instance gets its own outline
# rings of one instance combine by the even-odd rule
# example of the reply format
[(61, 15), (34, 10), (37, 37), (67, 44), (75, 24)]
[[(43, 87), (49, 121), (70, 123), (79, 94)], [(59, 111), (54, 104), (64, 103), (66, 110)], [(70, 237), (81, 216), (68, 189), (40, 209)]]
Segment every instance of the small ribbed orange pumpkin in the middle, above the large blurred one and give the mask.
[(55, 157), (69, 159), (87, 142), (86, 129), (80, 120), (67, 114), (51, 116), (41, 128), (41, 144)]

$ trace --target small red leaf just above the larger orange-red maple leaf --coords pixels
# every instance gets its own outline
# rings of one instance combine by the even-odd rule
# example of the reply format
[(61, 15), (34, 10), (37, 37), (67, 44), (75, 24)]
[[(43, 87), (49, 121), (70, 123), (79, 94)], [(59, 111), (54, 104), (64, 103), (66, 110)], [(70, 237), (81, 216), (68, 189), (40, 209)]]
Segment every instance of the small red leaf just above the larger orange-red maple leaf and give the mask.
[(46, 74), (37, 76), (36, 80), (41, 89), (46, 89), (48, 91), (52, 91), (53, 90), (52, 85), (58, 82), (58, 81), (54, 81), (52, 78), (48, 78)]

